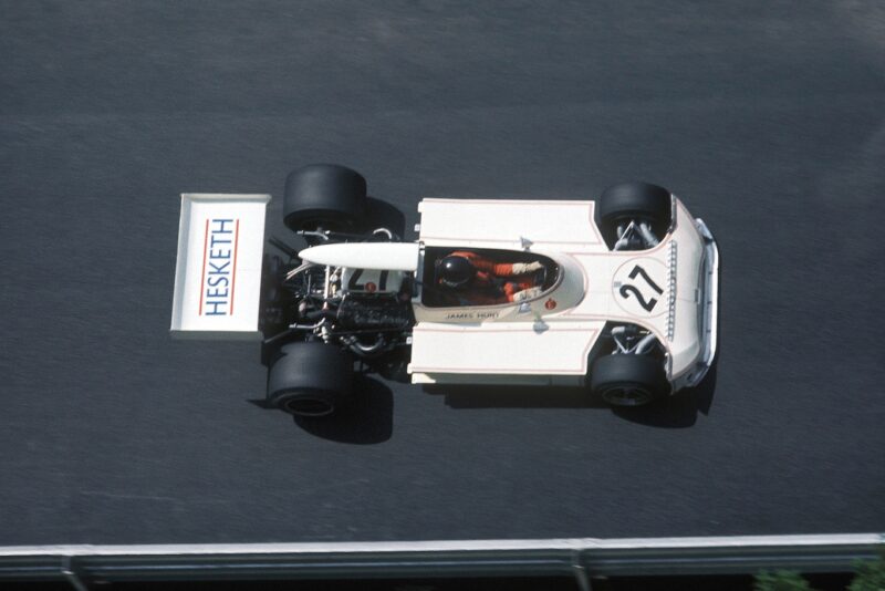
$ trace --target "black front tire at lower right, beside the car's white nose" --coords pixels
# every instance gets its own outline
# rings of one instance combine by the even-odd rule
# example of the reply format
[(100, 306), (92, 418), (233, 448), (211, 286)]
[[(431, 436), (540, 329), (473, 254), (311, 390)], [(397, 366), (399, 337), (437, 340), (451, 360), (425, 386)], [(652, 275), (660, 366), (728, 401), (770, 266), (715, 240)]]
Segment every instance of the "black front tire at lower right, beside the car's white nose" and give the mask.
[(590, 388), (612, 406), (643, 406), (669, 393), (664, 364), (649, 355), (605, 355), (593, 363)]

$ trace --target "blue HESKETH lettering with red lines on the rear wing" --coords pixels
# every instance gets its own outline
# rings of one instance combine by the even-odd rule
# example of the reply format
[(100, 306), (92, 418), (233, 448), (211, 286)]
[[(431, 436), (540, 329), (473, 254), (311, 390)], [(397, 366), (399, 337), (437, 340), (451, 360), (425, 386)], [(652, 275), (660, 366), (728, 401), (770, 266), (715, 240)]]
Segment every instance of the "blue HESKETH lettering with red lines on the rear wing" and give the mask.
[(206, 273), (202, 312), (223, 317), (232, 312), (233, 271), (236, 269), (235, 220), (210, 219), (206, 235)]

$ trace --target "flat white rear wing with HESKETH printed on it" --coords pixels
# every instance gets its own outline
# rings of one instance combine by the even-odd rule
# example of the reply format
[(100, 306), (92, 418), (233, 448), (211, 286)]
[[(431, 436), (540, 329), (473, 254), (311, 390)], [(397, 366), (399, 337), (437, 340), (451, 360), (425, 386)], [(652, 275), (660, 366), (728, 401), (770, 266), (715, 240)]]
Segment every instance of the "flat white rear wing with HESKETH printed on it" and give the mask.
[(264, 210), (270, 195), (185, 193), (171, 335), (260, 339)]

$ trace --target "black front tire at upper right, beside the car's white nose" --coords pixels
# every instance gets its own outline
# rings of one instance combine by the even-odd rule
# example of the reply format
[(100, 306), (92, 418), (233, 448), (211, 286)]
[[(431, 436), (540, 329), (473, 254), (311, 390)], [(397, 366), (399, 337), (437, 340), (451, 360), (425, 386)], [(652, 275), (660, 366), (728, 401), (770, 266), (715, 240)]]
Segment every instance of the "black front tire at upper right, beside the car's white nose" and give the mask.
[(670, 191), (648, 183), (622, 183), (605, 189), (600, 197), (600, 221), (606, 240), (613, 240), (618, 224), (648, 221), (658, 236), (670, 225)]

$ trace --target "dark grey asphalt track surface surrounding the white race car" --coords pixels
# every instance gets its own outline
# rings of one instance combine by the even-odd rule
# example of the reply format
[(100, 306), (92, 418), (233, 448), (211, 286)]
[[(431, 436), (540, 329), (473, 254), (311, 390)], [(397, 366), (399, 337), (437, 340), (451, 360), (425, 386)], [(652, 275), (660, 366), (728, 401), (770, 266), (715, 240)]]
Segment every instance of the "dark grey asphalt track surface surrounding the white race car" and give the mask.
[[(885, 9), (0, 6), (0, 545), (885, 531)], [(303, 164), (421, 196), (670, 188), (718, 369), (635, 413), (377, 377), (298, 424), (256, 344), (168, 334), (179, 194)], [(490, 220), (492, 224), (493, 220)]]

